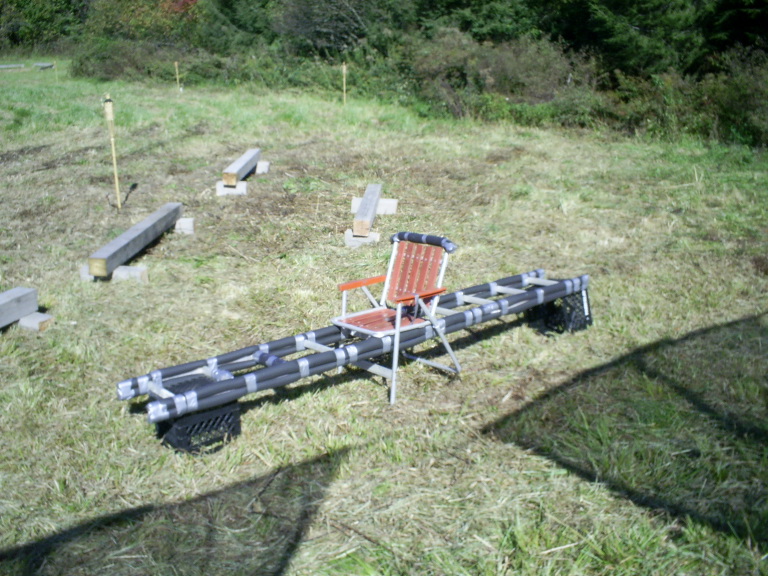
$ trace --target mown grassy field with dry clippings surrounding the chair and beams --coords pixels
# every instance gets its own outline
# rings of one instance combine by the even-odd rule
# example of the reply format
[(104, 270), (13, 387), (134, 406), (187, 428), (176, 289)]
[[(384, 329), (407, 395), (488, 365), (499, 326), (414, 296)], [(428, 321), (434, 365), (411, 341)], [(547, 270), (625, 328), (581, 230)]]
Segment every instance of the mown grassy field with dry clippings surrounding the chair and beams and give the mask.
[[(55, 317), (0, 333), (0, 573), (768, 574), (768, 155), (424, 119), (340, 95), (98, 84), (0, 70), (0, 291)], [(8, 62), (10, 63), (10, 62)], [(118, 212), (102, 101), (115, 102)], [(245, 150), (271, 163), (217, 197)], [(591, 276), (595, 325), (453, 335), (464, 371), (360, 372), (242, 402), (205, 456), (163, 447), (115, 384), (327, 326), (350, 201), (459, 245), (459, 289)], [(166, 202), (135, 262), (88, 256)]]

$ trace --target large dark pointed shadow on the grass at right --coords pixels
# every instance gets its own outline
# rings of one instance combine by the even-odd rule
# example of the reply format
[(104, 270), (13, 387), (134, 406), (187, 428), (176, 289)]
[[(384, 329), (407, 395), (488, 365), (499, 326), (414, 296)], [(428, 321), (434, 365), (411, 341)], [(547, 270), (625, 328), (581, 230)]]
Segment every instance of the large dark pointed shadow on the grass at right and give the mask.
[(768, 315), (640, 348), (484, 432), (768, 550)]

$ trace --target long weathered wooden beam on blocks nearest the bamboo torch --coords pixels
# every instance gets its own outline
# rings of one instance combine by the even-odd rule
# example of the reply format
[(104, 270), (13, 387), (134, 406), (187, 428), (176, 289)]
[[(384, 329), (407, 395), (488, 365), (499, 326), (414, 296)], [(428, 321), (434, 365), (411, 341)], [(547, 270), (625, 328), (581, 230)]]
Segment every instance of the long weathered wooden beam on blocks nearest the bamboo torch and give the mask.
[(180, 202), (169, 202), (88, 258), (92, 276), (106, 278), (176, 224), (181, 217)]

